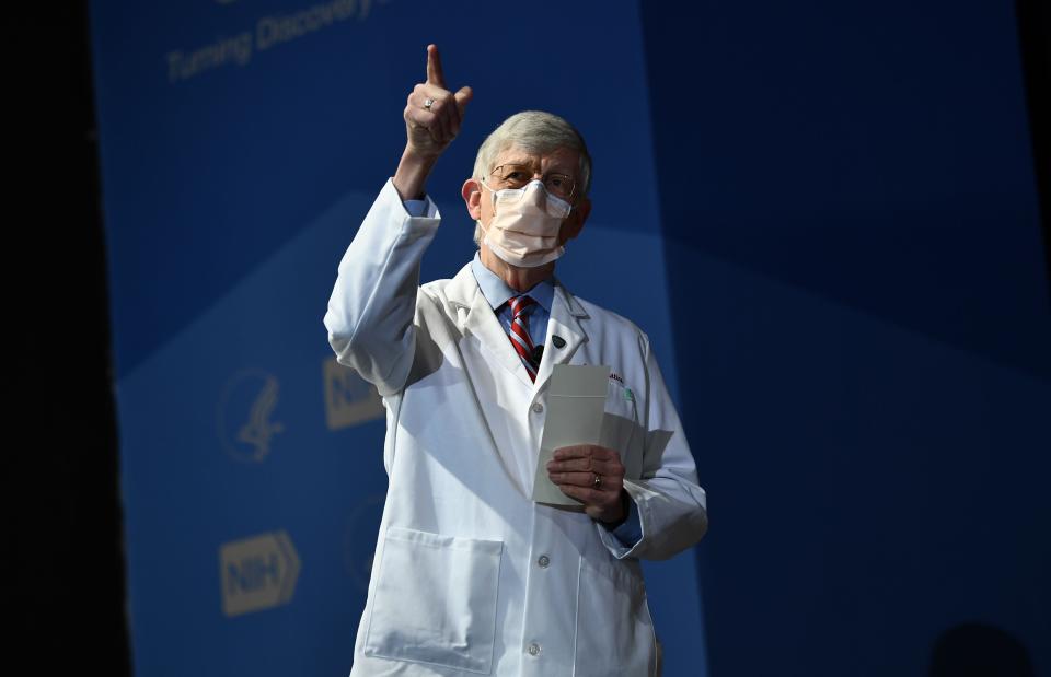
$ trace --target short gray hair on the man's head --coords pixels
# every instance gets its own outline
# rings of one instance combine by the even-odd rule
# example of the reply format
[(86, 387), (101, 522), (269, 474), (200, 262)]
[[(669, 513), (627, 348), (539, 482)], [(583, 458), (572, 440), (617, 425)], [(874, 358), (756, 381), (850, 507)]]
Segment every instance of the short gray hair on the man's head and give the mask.
[[(559, 148), (576, 151), (580, 157), (577, 171), (578, 195), (591, 190), (591, 155), (584, 137), (564, 118), (543, 110), (522, 110), (507, 118), (493, 130), (474, 159), (474, 178), (484, 179), (493, 171), (497, 155), (517, 145), (533, 153), (550, 153)], [(482, 227), (475, 224), (474, 244), (482, 242)]]

